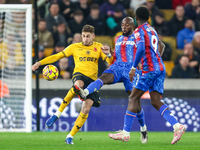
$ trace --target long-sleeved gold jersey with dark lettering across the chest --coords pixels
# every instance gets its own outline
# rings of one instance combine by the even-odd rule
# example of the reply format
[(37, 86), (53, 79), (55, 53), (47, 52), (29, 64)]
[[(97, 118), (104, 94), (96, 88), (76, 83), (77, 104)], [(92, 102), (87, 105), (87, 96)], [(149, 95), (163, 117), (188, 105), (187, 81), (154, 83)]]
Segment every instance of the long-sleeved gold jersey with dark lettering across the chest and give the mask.
[(53, 63), (63, 57), (73, 56), (75, 68), (74, 72), (80, 72), (85, 76), (96, 80), (98, 74), (98, 60), (102, 60), (111, 64), (113, 57), (108, 58), (101, 50), (103, 45), (98, 42), (93, 42), (90, 46), (85, 46), (80, 43), (74, 43), (66, 47), (62, 52), (49, 56), (40, 61), (41, 65)]

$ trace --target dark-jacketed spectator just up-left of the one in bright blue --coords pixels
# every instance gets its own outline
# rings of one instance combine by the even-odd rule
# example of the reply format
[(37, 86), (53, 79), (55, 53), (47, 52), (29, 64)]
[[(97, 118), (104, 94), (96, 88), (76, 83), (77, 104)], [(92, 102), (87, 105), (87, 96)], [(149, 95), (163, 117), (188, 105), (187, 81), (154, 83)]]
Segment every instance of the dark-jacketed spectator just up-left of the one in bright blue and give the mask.
[[(177, 33), (184, 28), (184, 24), (187, 20), (185, 17), (184, 7), (178, 5), (175, 9), (175, 14), (169, 21), (169, 34), (170, 36), (177, 36)], [(173, 28), (172, 28), (173, 27)]]

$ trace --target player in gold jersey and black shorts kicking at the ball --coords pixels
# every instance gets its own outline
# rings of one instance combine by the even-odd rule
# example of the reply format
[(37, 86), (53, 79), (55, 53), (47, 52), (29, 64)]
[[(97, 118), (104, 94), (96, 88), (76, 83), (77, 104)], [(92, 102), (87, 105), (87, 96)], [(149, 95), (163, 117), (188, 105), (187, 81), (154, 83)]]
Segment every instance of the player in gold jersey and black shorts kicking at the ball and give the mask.
[[(51, 64), (64, 57), (69, 57), (72, 55), (75, 62), (75, 68), (72, 76), (73, 85), (77, 85), (82, 88), (87, 87), (91, 82), (97, 79), (98, 59), (100, 57), (102, 60), (107, 61), (109, 64), (113, 62), (111, 48), (109, 46), (103, 46), (101, 43), (93, 41), (95, 37), (94, 30), (95, 29), (93, 26), (85, 25), (82, 29), (82, 42), (71, 44), (62, 52), (48, 56), (41, 61), (36, 62), (34, 65), (32, 65), (32, 70), (35, 71), (37, 68), (39, 68), (40, 65)], [(54, 122), (61, 116), (61, 113), (65, 107), (75, 96), (76, 93), (72, 87), (68, 91), (56, 113), (46, 121), (46, 125), (48, 127), (51, 127)], [(83, 101), (81, 112), (77, 117), (71, 132), (66, 137), (65, 142), (67, 144), (74, 144), (73, 136), (85, 123), (92, 106), (100, 106), (100, 98), (98, 92), (94, 92), (88, 95), (87, 99)]]

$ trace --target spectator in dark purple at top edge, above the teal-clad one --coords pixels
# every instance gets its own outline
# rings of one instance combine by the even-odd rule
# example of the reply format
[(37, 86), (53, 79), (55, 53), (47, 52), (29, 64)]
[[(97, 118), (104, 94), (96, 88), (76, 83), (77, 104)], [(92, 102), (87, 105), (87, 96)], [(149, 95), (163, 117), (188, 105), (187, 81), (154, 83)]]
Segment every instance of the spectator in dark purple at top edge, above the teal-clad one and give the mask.
[(114, 15), (114, 10), (118, 8), (123, 12), (123, 18), (126, 16), (124, 12), (124, 7), (118, 3), (117, 0), (108, 0), (108, 2), (103, 3), (100, 6), (100, 14), (102, 14), (105, 18)]

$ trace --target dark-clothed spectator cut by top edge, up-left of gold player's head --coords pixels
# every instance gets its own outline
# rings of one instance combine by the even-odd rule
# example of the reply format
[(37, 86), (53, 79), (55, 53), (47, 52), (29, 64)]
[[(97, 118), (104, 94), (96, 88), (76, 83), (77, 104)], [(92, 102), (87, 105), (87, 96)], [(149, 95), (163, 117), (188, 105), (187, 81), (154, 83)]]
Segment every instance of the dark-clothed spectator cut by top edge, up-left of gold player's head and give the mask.
[(76, 5), (70, 0), (61, 0), (59, 3), (60, 14), (65, 17), (66, 21), (69, 21), (73, 18), (73, 13), (76, 10)]

